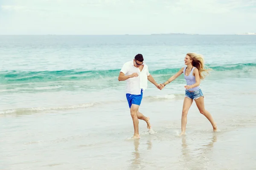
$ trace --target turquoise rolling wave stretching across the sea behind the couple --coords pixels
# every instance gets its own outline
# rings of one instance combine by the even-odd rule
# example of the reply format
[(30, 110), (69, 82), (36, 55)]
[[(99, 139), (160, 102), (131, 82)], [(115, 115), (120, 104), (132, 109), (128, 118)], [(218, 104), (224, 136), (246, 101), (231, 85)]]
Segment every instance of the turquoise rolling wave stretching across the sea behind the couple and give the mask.
[[(256, 63), (238, 63), (229, 65), (207, 65), (214, 71), (250, 71), (256, 68)], [(151, 70), (154, 75), (175, 74), (179, 68), (163, 68)], [(59, 70), (59, 71), (0, 71), (0, 82), (3, 84), (18, 82), (55, 82), (55, 81), (72, 81), (95, 78), (116, 79), (120, 69), (112, 70)]]

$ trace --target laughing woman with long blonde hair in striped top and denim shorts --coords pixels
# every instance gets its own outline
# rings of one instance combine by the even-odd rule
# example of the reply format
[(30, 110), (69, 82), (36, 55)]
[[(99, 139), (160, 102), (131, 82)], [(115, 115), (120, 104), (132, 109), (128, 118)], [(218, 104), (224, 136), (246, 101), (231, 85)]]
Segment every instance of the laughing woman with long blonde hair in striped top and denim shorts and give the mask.
[(202, 72), (206, 71), (208, 73), (209, 69), (205, 68), (204, 59), (200, 54), (188, 53), (186, 54), (184, 61), (185, 65), (187, 65), (186, 67), (181, 68), (180, 71), (170, 77), (166, 82), (160, 84), (160, 89), (163, 89), (167, 84), (184, 73), (184, 78), (187, 85), (185, 85), (186, 90), (182, 109), (180, 135), (185, 135), (187, 114), (193, 100), (195, 100), (200, 113), (202, 113), (211, 122), (213, 131), (217, 131), (217, 126), (212, 118), (212, 115), (204, 108), (204, 95), (199, 87), (200, 80), (204, 79), (205, 77)]

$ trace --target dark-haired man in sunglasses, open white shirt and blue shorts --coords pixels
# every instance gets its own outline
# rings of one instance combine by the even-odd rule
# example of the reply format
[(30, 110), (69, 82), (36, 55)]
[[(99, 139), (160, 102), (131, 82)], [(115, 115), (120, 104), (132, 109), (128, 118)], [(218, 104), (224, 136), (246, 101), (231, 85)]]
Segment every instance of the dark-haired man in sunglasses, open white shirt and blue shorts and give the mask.
[(143, 97), (143, 92), (148, 86), (148, 80), (153, 83), (158, 89), (160, 85), (148, 72), (148, 65), (146, 65), (142, 54), (137, 54), (132, 61), (126, 62), (120, 73), (118, 80), (127, 80), (126, 85), (126, 99), (129, 104), (131, 117), (134, 124), (134, 138), (140, 138), (139, 135), (139, 120), (142, 119), (147, 123), (148, 129), (151, 128), (149, 117), (145, 117), (139, 112), (140, 103)]

